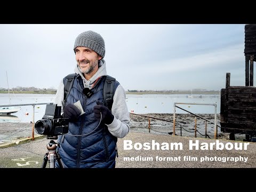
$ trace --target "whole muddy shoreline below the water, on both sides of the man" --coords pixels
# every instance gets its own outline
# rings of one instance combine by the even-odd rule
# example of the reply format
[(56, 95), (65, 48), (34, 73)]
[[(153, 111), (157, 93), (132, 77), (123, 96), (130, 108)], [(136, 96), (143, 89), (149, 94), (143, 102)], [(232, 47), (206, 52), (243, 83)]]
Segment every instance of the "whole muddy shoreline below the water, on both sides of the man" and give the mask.
[[(214, 122), (214, 114), (197, 115)], [(145, 116), (149, 116), (150, 118)], [(195, 138), (195, 136), (196, 138), (214, 138), (214, 124), (207, 123), (206, 133), (204, 119), (197, 118), (196, 124), (197, 132), (195, 135), (195, 116), (191, 114), (175, 114), (175, 135), (190, 138)], [(220, 126), (220, 114), (217, 114), (217, 125)], [(150, 113), (139, 116), (130, 113), (130, 132), (172, 135), (173, 114)], [(222, 133), (220, 127), (217, 129), (217, 133), (217, 139), (230, 140), (229, 133)], [(38, 135), (36, 130), (34, 130), (34, 137)], [(32, 123), (0, 123), (0, 142), (10, 142), (13, 139), (31, 138), (32, 136)], [(243, 141), (245, 134), (235, 134), (235, 139), (237, 141)]]

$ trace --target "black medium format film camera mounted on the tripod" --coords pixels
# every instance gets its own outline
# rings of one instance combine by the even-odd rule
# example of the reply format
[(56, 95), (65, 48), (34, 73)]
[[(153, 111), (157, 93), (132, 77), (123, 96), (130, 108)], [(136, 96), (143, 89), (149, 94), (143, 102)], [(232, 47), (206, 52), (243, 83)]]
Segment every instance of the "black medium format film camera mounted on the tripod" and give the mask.
[(65, 134), (68, 133), (68, 118), (61, 116), (60, 106), (48, 103), (43, 118), (35, 123), (35, 129), (38, 134), (49, 137)]

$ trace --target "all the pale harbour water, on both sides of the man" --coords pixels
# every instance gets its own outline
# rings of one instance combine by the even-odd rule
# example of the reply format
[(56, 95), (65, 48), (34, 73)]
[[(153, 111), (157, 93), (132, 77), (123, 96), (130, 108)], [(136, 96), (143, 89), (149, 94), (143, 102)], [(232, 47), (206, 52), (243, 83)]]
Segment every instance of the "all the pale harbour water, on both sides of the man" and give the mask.
[[(129, 112), (135, 114), (147, 113), (173, 113), (174, 102), (186, 103), (215, 103), (217, 104), (217, 113), (220, 113), (220, 95), (219, 94), (193, 94), (192, 98), (188, 98), (187, 94), (127, 94), (126, 104)], [(26, 103), (49, 103), (54, 102), (55, 94), (10, 94), (11, 105)], [(9, 95), (0, 93), (0, 105), (9, 105)], [(214, 114), (214, 106), (198, 106), (198, 105), (178, 105), (191, 113), (195, 114)], [(35, 122), (42, 119), (45, 113), (46, 105), (35, 106)], [(176, 113), (186, 114), (179, 108)], [(11, 114), (12, 117), (6, 120), (6, 116), (0, 116), (0, 122), (16, 121), (21, 123), (29, 123), (33, 120), (33, 106), (21, 106), (21, 110)], [(10, 120), (11, 119), (11, 120)]]

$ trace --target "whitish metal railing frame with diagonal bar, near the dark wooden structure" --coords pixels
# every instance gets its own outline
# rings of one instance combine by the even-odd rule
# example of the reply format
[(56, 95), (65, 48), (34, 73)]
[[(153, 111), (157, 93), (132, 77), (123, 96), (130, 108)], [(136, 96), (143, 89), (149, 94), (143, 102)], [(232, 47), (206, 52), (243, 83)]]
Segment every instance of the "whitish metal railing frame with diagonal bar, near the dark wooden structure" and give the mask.
[[(211, 121), (199, 116), (199, 115), (196, 115), (194, 113), (191, 113), (190, 111), (186, 110), (186, 109), (183, 109), (179, 106), (176, 106), (177, 104), (179, 105), (211, 105), (211, 106), (214, 106), (214, 123), (212, 123)], [(185, 110), (186, 112), (192, 114), (192, 115), (195, 115), (199, 118), (202, 118), (204, 119), (205, 121), (207, 122), (210, 122), (212, 124), (214, 124), (214, 139), (217, 139), (217, 133), (218, 133), (218, 129), (217, 129), (217, 104), (215, 103), (182, 103), (182, 102), (174, 102), (174, 109), (173, 109), (173, 136), (175, 135), (175, 111), (176, 111), (176, 107), (181, 109), (181, 110)], [(219, 126), (220, 127), (220, 126)], [(196, 125), (195, 125), (195, 136), (196, 136)]]

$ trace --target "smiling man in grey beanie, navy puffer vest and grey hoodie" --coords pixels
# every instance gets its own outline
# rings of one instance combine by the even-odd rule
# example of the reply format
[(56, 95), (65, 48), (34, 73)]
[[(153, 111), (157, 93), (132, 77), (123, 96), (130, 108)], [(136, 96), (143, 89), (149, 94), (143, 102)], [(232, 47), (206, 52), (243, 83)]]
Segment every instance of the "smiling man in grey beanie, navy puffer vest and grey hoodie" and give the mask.
[[(65, 78), (56, 93), (55, 103), (69, 119), (69, 131), (59, 135), (58, 151), (64, 167), (115, 167), (116, 141), (129, 132), (130, 116), (123, 87), (115, 81), (111, 111), (103, 106), (103, 84), (107, 75), (105, 42), (100, 34), (85, 31), (74, 45), (77, 65), (73, 86), (64, 103)], [(84, 94), (90, 92), (90, 94)], [(84, 110), (74, 105), (80, 101)], [(60, 165), (56, 162), (56, 166)]]

